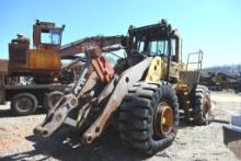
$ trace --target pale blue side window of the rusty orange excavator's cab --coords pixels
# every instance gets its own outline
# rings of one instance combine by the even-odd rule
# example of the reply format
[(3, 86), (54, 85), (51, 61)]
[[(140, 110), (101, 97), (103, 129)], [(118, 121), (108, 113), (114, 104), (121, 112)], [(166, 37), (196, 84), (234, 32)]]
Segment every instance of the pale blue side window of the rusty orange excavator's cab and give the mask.
[(43, 44), (59, 45), (61, 43), (61, 32), (51, 30), (49, 32), (42, 32), (41, 42)]

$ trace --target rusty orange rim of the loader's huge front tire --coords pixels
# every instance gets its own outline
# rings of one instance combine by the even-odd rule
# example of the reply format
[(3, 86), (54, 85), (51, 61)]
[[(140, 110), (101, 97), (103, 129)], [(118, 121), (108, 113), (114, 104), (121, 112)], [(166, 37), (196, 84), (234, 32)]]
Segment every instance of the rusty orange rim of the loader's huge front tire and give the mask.
[(154, 115), (154, 133), (160, 137), (167, 137), (172, 130), (172, 107), (165, 102), (159, 103)]

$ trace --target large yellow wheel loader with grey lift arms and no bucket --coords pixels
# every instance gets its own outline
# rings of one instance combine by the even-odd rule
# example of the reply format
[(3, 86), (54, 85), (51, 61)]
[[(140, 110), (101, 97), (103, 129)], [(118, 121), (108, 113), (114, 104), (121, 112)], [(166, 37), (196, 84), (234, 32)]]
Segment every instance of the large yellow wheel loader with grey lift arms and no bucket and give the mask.
[[(190, 70), (194, 62), (181, 61), (180, 33), (165, 20), (130, 26), (115, 42), (126, 57), (114, 67), (105, 58), (113, 43), (102, 41), (104, 46), (79, 44), (87, 58), (79, 80), (34, 128), (35, 135), (48, 137), (66, 124), (81, 133), (82, 145), (91, 143), (117, 120), (126, 146), (153, 154), (175, 139), (181, 112), (190, 122), (208, 124), (210, 99), (208, 89), (198, 84), (200, 69)], [(199, 68), (202, 55), (195, 62)]]

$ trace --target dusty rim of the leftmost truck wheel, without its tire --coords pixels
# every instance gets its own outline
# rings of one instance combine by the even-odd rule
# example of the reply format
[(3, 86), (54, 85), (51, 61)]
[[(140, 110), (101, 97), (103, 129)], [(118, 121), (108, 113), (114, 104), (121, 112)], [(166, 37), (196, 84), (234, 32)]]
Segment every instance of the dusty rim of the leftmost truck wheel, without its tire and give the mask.
[(21, 112), (28, 112), (33, 107), (34, 103), (28, 97), (20, 97), (16, 102), (16, 107)]

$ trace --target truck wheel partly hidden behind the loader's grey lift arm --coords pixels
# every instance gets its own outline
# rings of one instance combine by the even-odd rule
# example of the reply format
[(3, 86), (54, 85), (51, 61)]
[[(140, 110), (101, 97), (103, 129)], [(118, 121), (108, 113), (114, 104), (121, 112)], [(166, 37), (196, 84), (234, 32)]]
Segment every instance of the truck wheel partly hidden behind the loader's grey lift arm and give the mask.
[(53, 91), (48, 93), (44, 99), (44, 108), (48, 112), (54, 105), (58, 102), (58, 100), (64, 95), (60, 91)]

